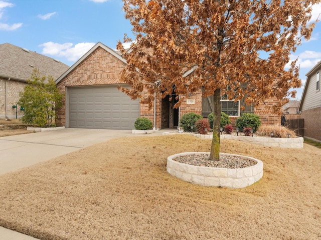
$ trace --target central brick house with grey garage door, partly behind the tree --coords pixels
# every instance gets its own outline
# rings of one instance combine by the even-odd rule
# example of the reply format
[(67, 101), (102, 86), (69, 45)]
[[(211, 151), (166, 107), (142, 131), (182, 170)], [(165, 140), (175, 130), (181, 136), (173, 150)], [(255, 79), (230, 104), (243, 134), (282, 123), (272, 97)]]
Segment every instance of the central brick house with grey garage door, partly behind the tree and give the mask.
[[(211, 96), (204, 98), (202, 90), (185, 99), (177, 109), (175, 96), (155, 98), (151, 109), (132, 100), (118, 90), (120, 74), (126, 60), (116, 51), (98, 42), (57, 80), (58, 89), (65, 93), (63, 107), (58, 110), (58, 125), (77, 128), (134, 129), (137, 117), (145, 116), (153, 121), (156, 129), (178, 126), (180, 117), (188, 112), (202, 114), (211, 110)], [(142, 93), (144, 94), (144, 93)], [(270, 106), (277, 99), (266, 102)], [(231, 116), (232, 122), (242, 112), (259, 114), (263, 124), (280, 124), (281, 116), (274, 114), (265, 105), (240, 110), (243, 102), (222, 99), (222, 111)]]

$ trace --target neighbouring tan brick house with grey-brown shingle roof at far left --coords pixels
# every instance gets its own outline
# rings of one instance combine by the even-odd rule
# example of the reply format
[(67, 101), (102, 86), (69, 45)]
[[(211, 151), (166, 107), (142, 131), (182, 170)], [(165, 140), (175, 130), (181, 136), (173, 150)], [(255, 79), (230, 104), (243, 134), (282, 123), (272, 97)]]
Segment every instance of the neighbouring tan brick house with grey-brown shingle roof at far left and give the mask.
[[(16, 109), (12, 106), (17, 104), (19, 93), (24, 90), (34, 68), (38, 68), (42, 75), (57, 79), (69, 66), (26, 48), (0, 44), (0, 118), (16, 117)], [(22, 114), (18, 106), (18, 115)]]

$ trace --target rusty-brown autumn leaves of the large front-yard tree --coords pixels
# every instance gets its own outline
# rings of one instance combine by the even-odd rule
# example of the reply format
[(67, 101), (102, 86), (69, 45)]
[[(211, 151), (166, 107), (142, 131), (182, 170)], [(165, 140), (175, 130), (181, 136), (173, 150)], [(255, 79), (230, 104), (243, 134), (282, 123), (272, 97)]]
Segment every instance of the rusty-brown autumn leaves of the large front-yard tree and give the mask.
[(295, 61), (284, 67), (302, 37), (310, 37), (309, 6), (318, 2), (124, 0), (136, 38), (124, 37), (135, 42), (130, 51), (117, 45), (128, 63), (122, 80), (131, 89), (123, 90), (150, 106), (154, 93), (165, 97), (175, 91), (181, 95), (178, 106), (200, 88), (204, 96), (219, 89), (248, 104), (276, 97), (278, 110), (287, 96), (295, 96), (291, 88), (301, 86)]

